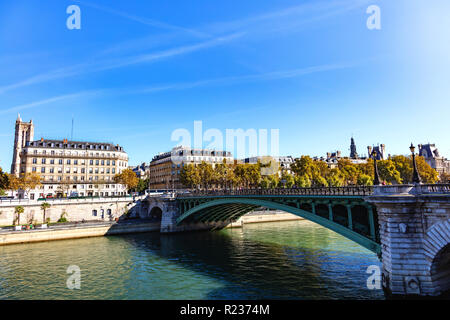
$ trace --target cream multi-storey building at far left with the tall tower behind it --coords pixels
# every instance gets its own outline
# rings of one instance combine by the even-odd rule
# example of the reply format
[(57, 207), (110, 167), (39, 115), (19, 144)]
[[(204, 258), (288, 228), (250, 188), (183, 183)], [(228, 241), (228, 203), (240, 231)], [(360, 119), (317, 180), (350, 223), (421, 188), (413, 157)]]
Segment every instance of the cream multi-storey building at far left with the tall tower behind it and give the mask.
[(40, 197), (117, 196), (126, 187), (114, 176), (128, 167), (128, 155), (119, 145), (99, 142), (34, 140), (34, 124), (16, 120), (11, 174), (35, 172), (42, 186), (29, 192)]

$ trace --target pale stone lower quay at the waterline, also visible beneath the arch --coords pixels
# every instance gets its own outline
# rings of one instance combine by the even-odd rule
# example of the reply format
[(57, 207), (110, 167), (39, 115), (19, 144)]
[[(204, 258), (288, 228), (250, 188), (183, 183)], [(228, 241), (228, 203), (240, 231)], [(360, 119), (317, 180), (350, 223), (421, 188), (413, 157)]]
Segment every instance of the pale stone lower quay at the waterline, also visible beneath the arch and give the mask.
[[(249, 213), (226, 228), (242, 228), (245, 224), (302, 220), (302, 218), (283, 211), (255, 211)], [(0, 245), (31, 243), (52, 240), (101, 237), (107, 235), (159, 232), (159, 221), (141, 219), (120, 222), (73, 223), (54, 225), (47, 229), (0, 230)]]

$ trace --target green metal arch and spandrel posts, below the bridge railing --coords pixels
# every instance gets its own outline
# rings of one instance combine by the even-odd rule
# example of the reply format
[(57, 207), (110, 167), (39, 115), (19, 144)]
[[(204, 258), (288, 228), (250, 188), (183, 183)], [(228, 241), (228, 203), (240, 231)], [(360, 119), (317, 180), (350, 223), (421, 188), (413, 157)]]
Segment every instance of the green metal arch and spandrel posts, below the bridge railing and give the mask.
[[(278, 200), (279, 201), (279, 200)], [(355, 241), (380, 254), (376, 214), (362, 203), (301, 202), (298, 200), (262, 200), (223, 198), (214, 200), (181, 200), (177, 224), (193, 222), (234, 222), (246, 213), (266, 207), (292, 213)]]

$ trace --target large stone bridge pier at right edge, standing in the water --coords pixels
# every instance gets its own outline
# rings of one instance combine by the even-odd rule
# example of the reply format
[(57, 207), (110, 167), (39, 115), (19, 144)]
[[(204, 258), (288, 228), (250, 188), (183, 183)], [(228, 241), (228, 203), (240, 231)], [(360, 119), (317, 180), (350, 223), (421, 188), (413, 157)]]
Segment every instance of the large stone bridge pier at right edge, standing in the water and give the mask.
[(435, 189), (383, 186), (366, 198), (378, 211), (388, 295), (438, 296), (450, 289), (450, 195)]

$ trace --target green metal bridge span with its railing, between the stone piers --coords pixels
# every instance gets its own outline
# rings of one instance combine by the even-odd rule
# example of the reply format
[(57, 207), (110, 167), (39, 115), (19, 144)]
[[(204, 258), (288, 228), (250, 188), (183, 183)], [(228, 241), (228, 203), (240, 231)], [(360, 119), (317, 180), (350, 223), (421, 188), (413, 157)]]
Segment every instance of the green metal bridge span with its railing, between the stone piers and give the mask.
[(177, 196), (177, 225), (232, 223), (260, 207), (313, 221), (380, 254), (376, 208), (364, 200), (372, 187), (203, 191)]

